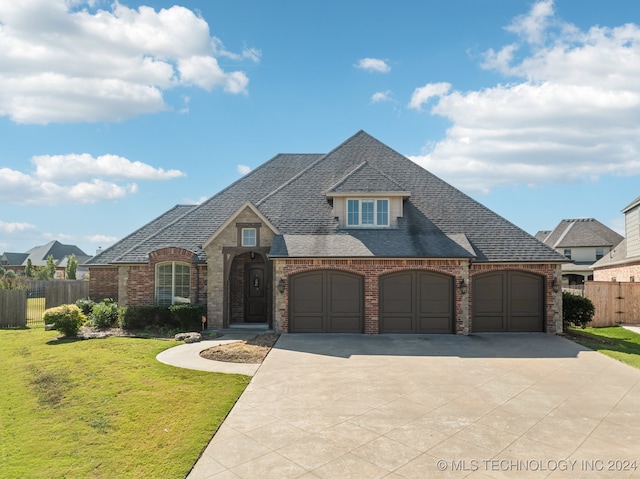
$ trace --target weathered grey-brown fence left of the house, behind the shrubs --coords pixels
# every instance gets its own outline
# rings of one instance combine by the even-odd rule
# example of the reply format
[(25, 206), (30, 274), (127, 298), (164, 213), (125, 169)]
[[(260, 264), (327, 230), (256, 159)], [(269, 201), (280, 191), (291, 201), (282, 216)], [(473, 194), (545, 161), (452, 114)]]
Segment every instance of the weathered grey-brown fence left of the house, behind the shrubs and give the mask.
[(0, 328), (43, 324), (45, 309), (88, 297), (88, 281), (30, 281), (29, 289), (0, 290)]

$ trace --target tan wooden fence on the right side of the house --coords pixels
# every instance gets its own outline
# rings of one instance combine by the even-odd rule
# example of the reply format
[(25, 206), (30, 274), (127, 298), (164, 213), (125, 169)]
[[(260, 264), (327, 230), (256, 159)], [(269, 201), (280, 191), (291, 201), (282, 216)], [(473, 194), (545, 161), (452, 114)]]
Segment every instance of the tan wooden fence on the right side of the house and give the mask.
[(589, 326), (640, 324), (640, 283), (587, 281), (584, 295), (596, 310)]

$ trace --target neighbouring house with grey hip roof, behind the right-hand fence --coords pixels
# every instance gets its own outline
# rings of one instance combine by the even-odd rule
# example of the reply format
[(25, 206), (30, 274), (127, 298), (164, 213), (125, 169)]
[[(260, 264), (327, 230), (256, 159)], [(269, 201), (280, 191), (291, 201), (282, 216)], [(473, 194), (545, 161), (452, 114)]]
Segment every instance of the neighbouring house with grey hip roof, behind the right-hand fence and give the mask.
[(536, 238), (571, 260), (562, 265), (562, 284), (565, 286), (592, 280), (591, 265), (624, 239), (593, 218), (562, 220), (553, 231), (536, 233)]

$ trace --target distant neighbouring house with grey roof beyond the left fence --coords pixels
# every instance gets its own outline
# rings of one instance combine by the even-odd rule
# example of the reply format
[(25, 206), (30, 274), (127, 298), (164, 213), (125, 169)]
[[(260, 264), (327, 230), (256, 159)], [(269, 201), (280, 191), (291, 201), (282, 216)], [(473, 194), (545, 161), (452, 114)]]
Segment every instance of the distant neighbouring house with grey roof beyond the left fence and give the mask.
[(66, 279), (67, 262), (72, 254), (76, 256), (78, 262), (76, 279), (83, 279), (89, 272), (83, 263), (91, 259), (91, 256), (75, 245), (66, 245), (59, 241), (50, 241), (45, 245), (36, 246), (26, 253), (3, 253), (0, 256), (0, 266), (17, 273), (24, 273), (29, 260), (33, 266), (42, 267), (47, 264), (47, 258), (53, 256), (53, 261), (56, 264), (55, 279)]

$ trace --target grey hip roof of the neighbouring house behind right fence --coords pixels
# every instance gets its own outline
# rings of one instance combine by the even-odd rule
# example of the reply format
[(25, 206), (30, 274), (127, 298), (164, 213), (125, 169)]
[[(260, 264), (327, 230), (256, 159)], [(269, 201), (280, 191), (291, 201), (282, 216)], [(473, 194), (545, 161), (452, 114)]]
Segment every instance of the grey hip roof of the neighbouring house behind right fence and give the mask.
[[(536, 235), (539, 238), (540, 233)], [(542, 241), (551, 248), (614, 247), (623, 237), (594, 218), (562, 220)]]

